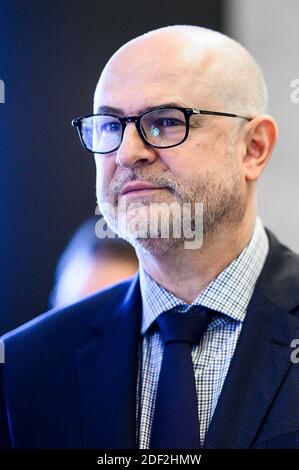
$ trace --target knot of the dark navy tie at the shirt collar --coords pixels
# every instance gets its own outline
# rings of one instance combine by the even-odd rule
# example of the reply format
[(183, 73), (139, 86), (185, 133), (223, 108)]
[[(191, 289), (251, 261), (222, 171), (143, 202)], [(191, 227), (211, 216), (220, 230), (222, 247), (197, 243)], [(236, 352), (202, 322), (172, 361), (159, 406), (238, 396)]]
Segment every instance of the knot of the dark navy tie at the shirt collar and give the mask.
[(187, 313), (179, 312), (175, 307), (161, 313), (156, 322), (164, 344), (173, 342), (196, 344), (200, 341), (211, 319), (212, 313), (206, 307), (199, 306), (196, 311)]

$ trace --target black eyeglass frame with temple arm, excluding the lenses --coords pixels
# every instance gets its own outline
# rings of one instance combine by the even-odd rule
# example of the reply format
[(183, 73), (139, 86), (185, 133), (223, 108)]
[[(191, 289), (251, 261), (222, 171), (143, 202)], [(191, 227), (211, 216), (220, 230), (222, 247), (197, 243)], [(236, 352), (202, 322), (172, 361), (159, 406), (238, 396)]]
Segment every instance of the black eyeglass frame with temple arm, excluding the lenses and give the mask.
[[(159, 111), (160, 109), (161, 110), (163, 110), (163, 109), (175, 109), (175, 110), (183, 112), (183, 114), (185, 116), (185, 120), (186, 120), (186, 133), (185, 133), (184, 138), (179, 143), (173, 144), (173, 145), (161, 146), (161, 145), (151, 144), (150, 142), (147, 141), (147, 138), (146, 138), (146, 136), (144, 135), (144, 133), (142, 131), (142, 126), (140, 125), (140, 121), (143, 118), (143, 116), (145, 116), (146, 114), (151, 113), (152, 111)], [(183, 142), (185, 142), (185, 140), (187, 139), (187, 137), (189, 135), (189, 128), (190, 128), (190, 117), (193, 116), (194, 114), (205, 114), (205, 115), (210, 115), (210, 116), (225, 116), (225, 117), (232, 117), (232, 118), (241, 118), (241, 119), (246, 119), (247, 121), (251, 121), (253, 119), (253, 118), (249, 118), (247, 116), (241, 116), (239, 114), (233, 114), (233, 113), (225, 113), (225, 112), (222, 112), (222, 111), (207, 111), (205, 109), (182, 108), (180, 106), (159, 106), (159, 107), (156, 107), (156, 108), (151, 108), (151, 109), (139, 114), (138, 116), (123, 116), (122, 117), (122, 116), (118, 116), (117, 114), (113, 114), (113, 113), (98, 113), (98, 114), (88, 114), (86, 116), (79, 116), (79, 117), (72, 120), (72, 126), (77, 129), (78, 134), (79, 134), (79, 138), (80, 138), (80, 142), (83, 145), (83, 147), (85, 148), (85, 150), (87, 150), (90, 153), (97, 153), (97, 154), (100, 154), (100, 155), (106, 155), (108, 153), (113, 153), (113, 152), (115, 152), (116, 150), (119, 149), (119, 147), (121, 146), (122, 141), (123, 141), (123, 136), (124, 136), (124, 132), (125, 132), (125, 129), (126, 129), (126, 125), (129, 122), (134, 122), (135, 123), (137, 132), (138, 132), (140, 138), (142, 139), (142, 141), (146, 145), (149, 145), (150, 147), (154, 147), (154, 148), (163, 148), (163, 149), (177, 147), (178, 145), (181, 145)], [(90, 118), (90, 117), (96, 117), (96, 116), (111, 116), (111, 117), (117, 118), (120, 121), (121, 126), (122, 126), (122, 133), (121, 133), (119, 144), (113, 150), (109, 150), (108, 152), (95, 152), (94, 150), (91, 150), (86, 146), (86, 144), (84, 142), (84, 139), (83, 139), (83, 136), (82, 136), (82, 120)]]

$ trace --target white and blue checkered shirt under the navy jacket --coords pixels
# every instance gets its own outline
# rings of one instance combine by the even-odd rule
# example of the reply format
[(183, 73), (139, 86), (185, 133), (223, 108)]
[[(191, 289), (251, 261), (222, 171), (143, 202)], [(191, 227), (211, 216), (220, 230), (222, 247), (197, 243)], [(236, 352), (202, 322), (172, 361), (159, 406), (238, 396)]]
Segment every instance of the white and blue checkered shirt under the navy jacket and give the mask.
[(155, 282), (140, 268), (142, 295), (142, 340), (137, 386), (137, 446), (148, 449), (155, 396), (163, 356), (159, 331), (148, 331), (158, 315), (175, 306), (188, 313), (202, 305), (217, 312), (199, 344), (192, 347), (201, 444), (232, 359), (246, 310), (269, 250), (262, 222), (256, 220), (248, 245), (192, 302), (186, 304)]

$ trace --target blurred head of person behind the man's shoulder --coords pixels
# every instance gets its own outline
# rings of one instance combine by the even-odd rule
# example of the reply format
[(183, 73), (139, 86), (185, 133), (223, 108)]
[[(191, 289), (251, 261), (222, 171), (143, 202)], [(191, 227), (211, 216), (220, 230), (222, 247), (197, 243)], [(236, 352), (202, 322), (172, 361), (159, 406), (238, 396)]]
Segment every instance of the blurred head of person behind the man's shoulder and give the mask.
[(119, 237), (98, 238), (98, 217), (85, 221), (58, 260), (49, 307), (63, 307), (127, 277), (138, 269), (134, 248)]

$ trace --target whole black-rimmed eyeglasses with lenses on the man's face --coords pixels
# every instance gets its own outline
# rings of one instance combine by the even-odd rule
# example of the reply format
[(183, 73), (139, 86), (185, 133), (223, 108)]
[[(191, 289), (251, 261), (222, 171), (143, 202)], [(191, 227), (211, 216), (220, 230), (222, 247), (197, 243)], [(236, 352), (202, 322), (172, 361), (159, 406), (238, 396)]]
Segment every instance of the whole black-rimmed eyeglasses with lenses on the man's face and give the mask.
[(238, 114), (167, 106), (152, 108), (138, 116), (91, 114), (73, 119), (72, 125), (77, 128), (80, 141), (86, 150), (107, 154), (115, 152), (120, 147), (129, 122), (135, 123), (139, 136), (147, 145), (155, 148), (176, 147), (187, 139), (190, 117), (194, 114), (251, 120)]

